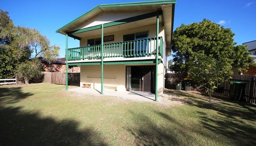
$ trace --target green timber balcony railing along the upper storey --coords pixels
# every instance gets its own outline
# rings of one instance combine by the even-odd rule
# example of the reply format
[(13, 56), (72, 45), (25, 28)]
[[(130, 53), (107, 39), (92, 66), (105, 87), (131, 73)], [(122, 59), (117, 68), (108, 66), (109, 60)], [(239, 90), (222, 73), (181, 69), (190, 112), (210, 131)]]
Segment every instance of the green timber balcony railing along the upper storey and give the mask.
[[(156, 54), (156, 41), (158, 52), (163, 57), (163, 38), (147, 38), (132, 41), (103, 44), (103, 57), (145, 57)], [(101, 58), (101, 45), (92, 45), (68, 49), (68, 61)]]

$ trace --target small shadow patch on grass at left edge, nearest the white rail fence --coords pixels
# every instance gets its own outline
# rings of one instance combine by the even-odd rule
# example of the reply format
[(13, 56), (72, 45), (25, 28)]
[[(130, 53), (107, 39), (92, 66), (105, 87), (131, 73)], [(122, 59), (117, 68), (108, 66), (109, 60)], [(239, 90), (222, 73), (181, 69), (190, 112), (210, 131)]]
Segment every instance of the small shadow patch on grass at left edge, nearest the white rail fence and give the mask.
[(13, 104), (33, 95), (33, 93), (23, 93), (21, 87), (0, 88), (0, 103)]

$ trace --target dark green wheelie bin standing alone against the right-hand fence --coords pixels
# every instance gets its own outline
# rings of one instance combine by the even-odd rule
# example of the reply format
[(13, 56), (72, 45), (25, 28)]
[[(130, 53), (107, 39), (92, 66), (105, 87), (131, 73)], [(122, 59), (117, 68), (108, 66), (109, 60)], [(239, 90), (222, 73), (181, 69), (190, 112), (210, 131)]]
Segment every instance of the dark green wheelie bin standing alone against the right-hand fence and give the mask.
[(232, 100), (244, 101), (246, 83), (231, 81), (229, 86), (229, 97)]

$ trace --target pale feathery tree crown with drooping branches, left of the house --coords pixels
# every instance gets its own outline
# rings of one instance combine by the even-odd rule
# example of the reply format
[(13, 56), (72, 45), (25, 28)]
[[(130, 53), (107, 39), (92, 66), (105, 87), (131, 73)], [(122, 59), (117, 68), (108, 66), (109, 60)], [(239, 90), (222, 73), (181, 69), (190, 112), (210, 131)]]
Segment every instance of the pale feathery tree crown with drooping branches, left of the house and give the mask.
[(40, 34), (36, 29), (27, 27), (16, 27), (14, 39), (9, 45), (10, 49), (16, 55), (16, 58), (24, 59), (44, 57), (51, 61), (58, 56), (59, 47), (50, 45), (50, 40)]

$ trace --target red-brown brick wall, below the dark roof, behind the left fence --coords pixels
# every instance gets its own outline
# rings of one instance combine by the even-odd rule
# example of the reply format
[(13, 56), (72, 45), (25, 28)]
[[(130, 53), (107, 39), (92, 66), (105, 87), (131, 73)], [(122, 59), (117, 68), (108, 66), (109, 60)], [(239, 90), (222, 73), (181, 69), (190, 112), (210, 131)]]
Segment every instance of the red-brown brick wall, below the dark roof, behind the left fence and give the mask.
[[(44, 66), (45, 72), (66, 72), (66, 65), (63, 64), (47, 64), (42, 62), (42, 66)], [(53, 71), (51, 71), (51, 67), (53, 67)], [(80, 73), (79, 66), (69, 66), (68, 72)]]

